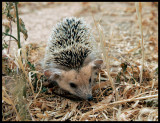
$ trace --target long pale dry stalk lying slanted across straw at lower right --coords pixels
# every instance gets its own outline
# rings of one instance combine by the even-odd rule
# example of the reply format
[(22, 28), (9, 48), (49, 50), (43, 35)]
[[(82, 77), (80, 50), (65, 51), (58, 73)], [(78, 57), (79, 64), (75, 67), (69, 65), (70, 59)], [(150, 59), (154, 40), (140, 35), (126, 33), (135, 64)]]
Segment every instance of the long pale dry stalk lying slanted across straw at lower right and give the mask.
[[(156, 94), (156, 95), (150, 95), (150, 96), (145, 96), (145, 97), (138, 97), (138, 98), (131, 98), (131, 99), (126, 99), (126, 100), (120, 100), (120, 101), (116, 101), (116, 102), (109, 103), (109, 104), (98, 103), (97, 105), (94, 105), (92, 107), (93, 108), (92, 111), (89, 111), (89, 112), (83, 114), (80, 120), (83, 120), (88, 115), (93, 114), (94, 112), (103, 111), (105, 108), (110, 107), (111, 105), (118, 105), (118, 104), (123, 104), (123, 103), (137, 101), (137, 100), (149, 99), (149, 98), (158, 98), (158, 94)], [(94, 108), (94, 107), (96, 107), (96, 108)]]

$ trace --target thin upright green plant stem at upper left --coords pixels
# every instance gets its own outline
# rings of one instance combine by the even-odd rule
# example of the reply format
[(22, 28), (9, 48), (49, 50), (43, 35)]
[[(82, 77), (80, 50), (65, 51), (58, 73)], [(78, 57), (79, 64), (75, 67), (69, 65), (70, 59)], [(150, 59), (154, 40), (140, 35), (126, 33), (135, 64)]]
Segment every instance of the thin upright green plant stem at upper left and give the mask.
[(18, 17), (18, 7), (17, 7), (17, 2), (15, 2), (15, 8), (16, 8), (16, 17), (17, 17), (17, 35), (18, 35), (18, 48), (21, 48), (21, 43), (20, 43), (20, 28), (19, 28), (19, 17)]

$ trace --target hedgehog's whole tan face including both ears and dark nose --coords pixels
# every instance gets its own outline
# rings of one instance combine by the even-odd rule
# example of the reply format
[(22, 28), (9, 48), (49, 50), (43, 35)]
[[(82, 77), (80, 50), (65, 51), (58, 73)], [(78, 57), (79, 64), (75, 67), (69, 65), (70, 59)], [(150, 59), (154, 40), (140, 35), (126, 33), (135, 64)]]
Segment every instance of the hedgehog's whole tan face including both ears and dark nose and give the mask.
[(99, 65), (101, 62), (98, 61), (97, 63), (98, 64), (91, 62), (82, 67), (79, 71), (64, 71), (61, 69), (54, 69), (54, 71), (50, 70), (48, 77), (51, 80), (56, 81), (62, 89), (69, 91), (71, 94), (86, 100), (91, 100), (93, 75), (97, 72), (97, 70), (99, 70)]

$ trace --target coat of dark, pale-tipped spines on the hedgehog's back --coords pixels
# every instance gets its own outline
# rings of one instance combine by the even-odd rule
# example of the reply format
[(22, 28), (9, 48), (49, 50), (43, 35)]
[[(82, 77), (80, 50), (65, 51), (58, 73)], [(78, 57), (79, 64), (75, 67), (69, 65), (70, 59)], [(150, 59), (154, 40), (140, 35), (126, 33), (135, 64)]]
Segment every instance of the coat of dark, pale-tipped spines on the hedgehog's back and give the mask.
[(68, 69), (80, 69), (85, 58), (97, 47), (83, 18), (64, 18), (52, 30), (45, 53), (45, 68), (54, 65)]

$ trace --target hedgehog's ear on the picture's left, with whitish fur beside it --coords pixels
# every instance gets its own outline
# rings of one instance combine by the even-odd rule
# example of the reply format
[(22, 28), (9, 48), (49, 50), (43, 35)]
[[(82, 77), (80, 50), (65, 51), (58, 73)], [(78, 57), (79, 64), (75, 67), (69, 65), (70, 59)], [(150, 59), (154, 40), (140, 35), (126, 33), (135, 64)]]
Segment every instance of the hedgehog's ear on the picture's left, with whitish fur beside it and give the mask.
[(49, 78), (50, 80), (57, 80), (60, 78), (62, 71), (60, 69), (54, 70), (45, 70), (44, 75)]

